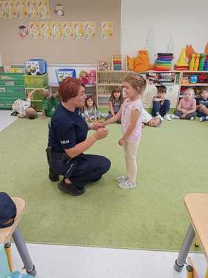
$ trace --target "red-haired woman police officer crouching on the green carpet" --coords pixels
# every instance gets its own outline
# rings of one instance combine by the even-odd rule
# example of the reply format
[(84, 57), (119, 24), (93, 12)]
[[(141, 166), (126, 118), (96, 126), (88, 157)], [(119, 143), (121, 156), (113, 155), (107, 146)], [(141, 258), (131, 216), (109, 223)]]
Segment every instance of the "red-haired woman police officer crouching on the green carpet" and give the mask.
[(98, 181), (110, 169), (110, 161), (104, 156), (83, 154), (97, 140), (107, 136), (107, 129), (92, 124), (95, 133), (87, 138), (88, 124), (78, 108), (85, 101), (85, 85), (79, 79), (68, 77), (60, 84), (61, 103), (55, 111), (49, 129), (46, 149), (49, 162), (49, 179), (64, 179), (58, 188), (73, 196), (85, 192), (85, 183)]

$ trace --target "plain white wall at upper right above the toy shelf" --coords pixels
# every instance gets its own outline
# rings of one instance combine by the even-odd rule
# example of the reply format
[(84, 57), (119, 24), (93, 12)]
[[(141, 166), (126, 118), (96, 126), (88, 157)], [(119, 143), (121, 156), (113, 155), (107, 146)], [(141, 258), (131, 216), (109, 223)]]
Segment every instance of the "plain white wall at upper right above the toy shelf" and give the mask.
[(204, 52), (207, 26), (207, 0), (122, 0), (121, 54), (136, 56), (137, 50), (144, 49), (148, 31), (153, 28), (156, 53), (165, 52), (172, 37), (177, 61), (186, 44)]

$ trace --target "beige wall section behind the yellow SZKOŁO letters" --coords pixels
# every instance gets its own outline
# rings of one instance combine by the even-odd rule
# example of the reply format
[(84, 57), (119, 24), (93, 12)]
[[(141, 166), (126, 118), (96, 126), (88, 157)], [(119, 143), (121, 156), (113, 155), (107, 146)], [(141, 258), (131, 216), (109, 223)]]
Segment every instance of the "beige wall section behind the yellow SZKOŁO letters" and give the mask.
[[(1, 3), (2, 1), (0, 0)], [(49, 64), (94, 64), (98, 60), (110, 61), (113, 54), (120, 53), (121, 0), (48, 1), (49, 18), (35, 18), (31, 15), (23, 18), (0, 17), (0, 54), (3, 64), (24, 63), (24, 60), (30, 58), (42, 58)], [(58, 10), (58, 3), (62, 5), (62, 10)], [(36, 15), (34, 9), (31, 10), (33, 15)], [(88, 37), (92, 30), (94, 36), (72, 39), (58, 38), (58, 35), (57, 38), (31, 38), (31, 25), (34, 28), (38, 22), (42, 26), (47, 23), (62, 25), (63, 22), (67, 22), (68, 26), (64, 26), (68, 35), (70, 22), (76, 22), (84, 24), (85, 29), (89, 31)], [(112, 24), (112, 33), (102, 32), (102, 27), (106, 24)], [(21, 37), (19, 26), (25, 26), (28, 35), (24, 34)]]

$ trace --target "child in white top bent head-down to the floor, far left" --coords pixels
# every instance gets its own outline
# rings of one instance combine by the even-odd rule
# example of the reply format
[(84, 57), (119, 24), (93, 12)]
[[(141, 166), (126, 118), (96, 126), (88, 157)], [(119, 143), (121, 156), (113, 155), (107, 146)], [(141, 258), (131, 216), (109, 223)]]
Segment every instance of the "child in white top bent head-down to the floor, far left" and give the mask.
[(33, 97), (35, 91), (37, 91), (37, 89), (28, 93), (26, 101), (22, 99), (15, 100), (14, 104), (12, 104), (11, 116), (28, 117), (28, 119), (31, 120), (37, 117), (37, 112), (31, 107), (31, 97)]

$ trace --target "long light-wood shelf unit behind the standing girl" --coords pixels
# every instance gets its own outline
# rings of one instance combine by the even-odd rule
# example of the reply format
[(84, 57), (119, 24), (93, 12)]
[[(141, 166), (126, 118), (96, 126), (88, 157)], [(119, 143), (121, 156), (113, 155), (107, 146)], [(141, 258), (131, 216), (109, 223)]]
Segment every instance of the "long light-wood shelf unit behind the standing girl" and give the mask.
[[(112, 93), (112, 88), (115, 86), (122, 86), (123, 79), (128, 74), (141, 75), (147, 80), (146, 91), (142, 96), (143, 105), (145, 108), (152, 106), (153, 96), (157, 92), (157, 85), (166, 85), (167, 93), (166, 98), (171, 101), (171, 108), (176, 108), (177, 103), (182, 97), (185, 88), (193, 87), (196, 97), (200, 94), (203, 87), (208, 86), (208, 72), (204, 71), (167, 71), (167, 72), (132, 72), (132, 71), (98, 71), (97, 72), (97, 85), (96, 85), (96, 102), (98, 106), (108, 106), (108, 99)], [(186, 83), (183, 84), (184, 79), (188, 79), (191, 74), (197, 76), (207, 76), (205, 82), (200, 83)], [(207, 83), (206, 83), (207, 82)]]

